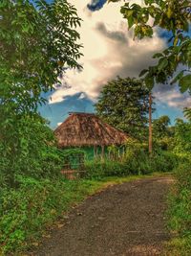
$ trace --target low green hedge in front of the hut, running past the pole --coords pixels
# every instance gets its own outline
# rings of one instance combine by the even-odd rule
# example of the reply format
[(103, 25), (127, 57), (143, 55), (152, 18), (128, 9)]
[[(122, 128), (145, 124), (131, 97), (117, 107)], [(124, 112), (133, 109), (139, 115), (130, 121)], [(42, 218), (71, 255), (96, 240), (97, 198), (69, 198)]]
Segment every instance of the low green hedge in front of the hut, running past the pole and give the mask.
[(146, 145), (130, 140), (120, 158), (95, 159), (85, 162), (87, 178), (105, 176), (146, 175), (154, 172), (171, 172), (180, 159), (168, 151), (156, 151), (151, 157)]

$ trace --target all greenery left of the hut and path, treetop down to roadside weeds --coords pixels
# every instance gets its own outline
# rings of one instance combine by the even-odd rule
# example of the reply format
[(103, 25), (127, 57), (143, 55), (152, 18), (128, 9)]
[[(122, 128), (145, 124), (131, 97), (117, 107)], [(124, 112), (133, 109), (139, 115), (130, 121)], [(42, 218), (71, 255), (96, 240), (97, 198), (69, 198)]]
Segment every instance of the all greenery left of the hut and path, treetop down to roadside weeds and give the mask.
[(64, 209), (69, 196), (60, 198), (67, 188), (75, 195), (74, 185), (65, 189), (59, 179), (62, 158), (37, 108), (66, 68), (81, 68), (79, 25), (67, 1), (0, 3), (1, 255), (25, 247), (39, 226)]

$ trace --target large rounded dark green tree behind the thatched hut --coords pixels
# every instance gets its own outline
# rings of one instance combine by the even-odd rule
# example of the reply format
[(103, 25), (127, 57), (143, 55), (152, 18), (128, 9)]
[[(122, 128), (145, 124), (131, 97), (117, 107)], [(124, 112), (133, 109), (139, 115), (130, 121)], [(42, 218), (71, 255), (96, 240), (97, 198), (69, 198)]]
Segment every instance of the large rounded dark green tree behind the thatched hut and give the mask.
[(96, 113), (110, 125), (131, 136), (147, 136), (149, 90), (143, 81), (121, 79), (109, 81), (96, 104)]

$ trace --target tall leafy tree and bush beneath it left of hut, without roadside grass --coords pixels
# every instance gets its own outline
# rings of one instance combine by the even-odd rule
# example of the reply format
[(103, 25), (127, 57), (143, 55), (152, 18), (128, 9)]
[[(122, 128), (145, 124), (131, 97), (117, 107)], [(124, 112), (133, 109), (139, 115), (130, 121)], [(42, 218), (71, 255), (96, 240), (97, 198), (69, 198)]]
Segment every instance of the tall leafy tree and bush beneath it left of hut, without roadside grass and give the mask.
[(50, 169), (42, 158), (53, 131), (37, 107), (46, 102), (42, 92), (53, 90), (67, 68), (81, 68), (79, 25), (65, 0), (0, 2), (0, 172), (11, 179), (22, 170), (29, 175), (29, 169)]

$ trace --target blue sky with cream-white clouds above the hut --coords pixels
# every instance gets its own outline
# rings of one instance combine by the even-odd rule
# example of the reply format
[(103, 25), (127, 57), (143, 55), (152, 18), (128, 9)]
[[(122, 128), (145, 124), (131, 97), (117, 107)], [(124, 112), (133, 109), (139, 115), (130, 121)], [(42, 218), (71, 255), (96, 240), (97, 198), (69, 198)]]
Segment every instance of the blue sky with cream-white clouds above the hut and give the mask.
[[(46, 95), (48, 105), (40, 108), (41, 114), (56, 128), (70, 111), (94, 112), (101, 88), (107, 81), (135, 77), (144, 68), (155, 63), (152, 56), (167, 47), (167, 33), (156, 30), (153, 38), (134, 40), (127, 22), (120, 13), (120, 3), (107, 4), (106, 0), (68, 0), (82, 18), (77, 30), (83, 44), (83, 57), (79, 62), (83, 70), (68, 70), (62, 85), (55, 86)], [(141, 4), (141, 0), (131, 3)], [(156, 102), (154, 118), (169, 115), (171, 123), (182, 117), (182, 108), (191, 106), (188, 94), (181, 94), (178, 85), (158, 84), (153, 90)]]

